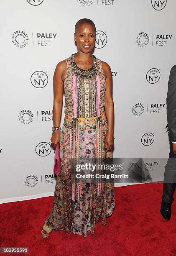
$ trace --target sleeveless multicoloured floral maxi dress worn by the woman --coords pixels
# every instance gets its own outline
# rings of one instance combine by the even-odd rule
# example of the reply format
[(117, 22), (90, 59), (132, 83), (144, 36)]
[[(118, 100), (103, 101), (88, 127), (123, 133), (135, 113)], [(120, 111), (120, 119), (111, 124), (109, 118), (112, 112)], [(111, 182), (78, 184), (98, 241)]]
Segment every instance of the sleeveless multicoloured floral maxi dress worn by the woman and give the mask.
[[(105, 225), (106, 218), (112, 215), (115, 189), (114, 184), (103, 183), (98, 196), (97, 184), (85, 183), (76, 194), (71, 183), (71, 157), (88, 159), (113, 156), (112, 150), (106, 153), (104, 149), (107, 118), (102, 62), (92, 55), (93, 65), (86, 70), (88, 72), (84, 72), (77, 66), (74, 55), (65, 59), (67, 70), (64, 81), (65, 118), (60, 138), (61, 172), (56, 178), (54, 202), (45, 225), (51, 229), (65, 230), (67, 234), (72, 229), (74, 234), (87, 237), (87, 231), (94, 234), (95, 223), (100, 218)], [(99, 116), (101, 118), (97, 118)]]

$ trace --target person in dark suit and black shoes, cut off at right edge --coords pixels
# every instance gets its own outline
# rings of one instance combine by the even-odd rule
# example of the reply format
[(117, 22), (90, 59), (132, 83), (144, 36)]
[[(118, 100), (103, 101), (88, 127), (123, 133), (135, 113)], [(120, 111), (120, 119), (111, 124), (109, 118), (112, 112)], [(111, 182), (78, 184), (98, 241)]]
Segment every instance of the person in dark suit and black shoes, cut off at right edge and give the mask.
[(171, 68), (166, 104), (168, 120), (166, 128), (168, 128), (170, 152), (164, 173), (161, 215), (165, 220), (170, 220), (176, 186), (176, 65)]

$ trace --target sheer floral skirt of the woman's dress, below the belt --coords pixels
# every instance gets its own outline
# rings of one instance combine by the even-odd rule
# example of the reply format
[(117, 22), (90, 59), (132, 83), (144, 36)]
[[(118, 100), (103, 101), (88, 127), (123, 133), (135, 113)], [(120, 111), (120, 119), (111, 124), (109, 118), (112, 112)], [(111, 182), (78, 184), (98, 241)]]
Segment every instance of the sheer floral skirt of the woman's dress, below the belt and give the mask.
[[(107, 123), (103, 128), (103, 144), (107, 135)], [(79, 131), (79, 152), (83, 158), (95, 156), (95, 129)], [(62, 169), (56, 179), (54, 202), (51, 214), (45, 221), (48, 228), (65, 230), (68, 234), (71, 230), (74, 234), (87, 237), (87, 231), (94, 234), (95, 223), (102, 218), (105, 225), (107, 217), (112, 215), (115, 207), (115, 189), (113, 183), (103, 183), (101, 198), (97, 197), (97, 184), (84, 183), (82, 197), (84, 200), (73, 202), (71, 192), (71, 161), (70, 161), (70, 128), (64, 124), (61, 129), (60, 156)], [(112, 158), (112, 150), (106, 153)]]

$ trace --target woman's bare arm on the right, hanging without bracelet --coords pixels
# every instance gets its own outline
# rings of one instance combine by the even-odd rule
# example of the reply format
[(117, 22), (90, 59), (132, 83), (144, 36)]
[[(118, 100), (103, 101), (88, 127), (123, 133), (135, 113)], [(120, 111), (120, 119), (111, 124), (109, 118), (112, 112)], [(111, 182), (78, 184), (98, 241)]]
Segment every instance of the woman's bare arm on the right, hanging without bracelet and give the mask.
[(107, 136), (105, 139), (106, 152), (110, 151), (114, 144), (114, 101), (112, 98), (112, 72), (110, 66), (102, 61), (102, 69), (105, 75), (105, 113), (107, 117)]

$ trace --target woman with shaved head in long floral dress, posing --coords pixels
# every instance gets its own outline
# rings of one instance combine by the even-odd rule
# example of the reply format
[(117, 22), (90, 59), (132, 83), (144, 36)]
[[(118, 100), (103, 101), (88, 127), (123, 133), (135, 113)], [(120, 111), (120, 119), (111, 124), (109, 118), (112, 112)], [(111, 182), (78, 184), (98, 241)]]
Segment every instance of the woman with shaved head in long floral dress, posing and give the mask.
[(51, 142), (60, 143), (61, 172), (56, 179), (51, 214), (41, 230), (65, 230), (87, 237), (95, 223), (106, 224), (115, 207), (112, 183), (75, 184), (71, 179), (71, 159), (112, 158), (114, 144), (114, 103), (110, 66), (92, 54), (96, 28), (92, 20), (75, 25), (77, 53), (57, 64), (54, 72), (54, 127), (59, 127), (65, 93), (65, 118)]

